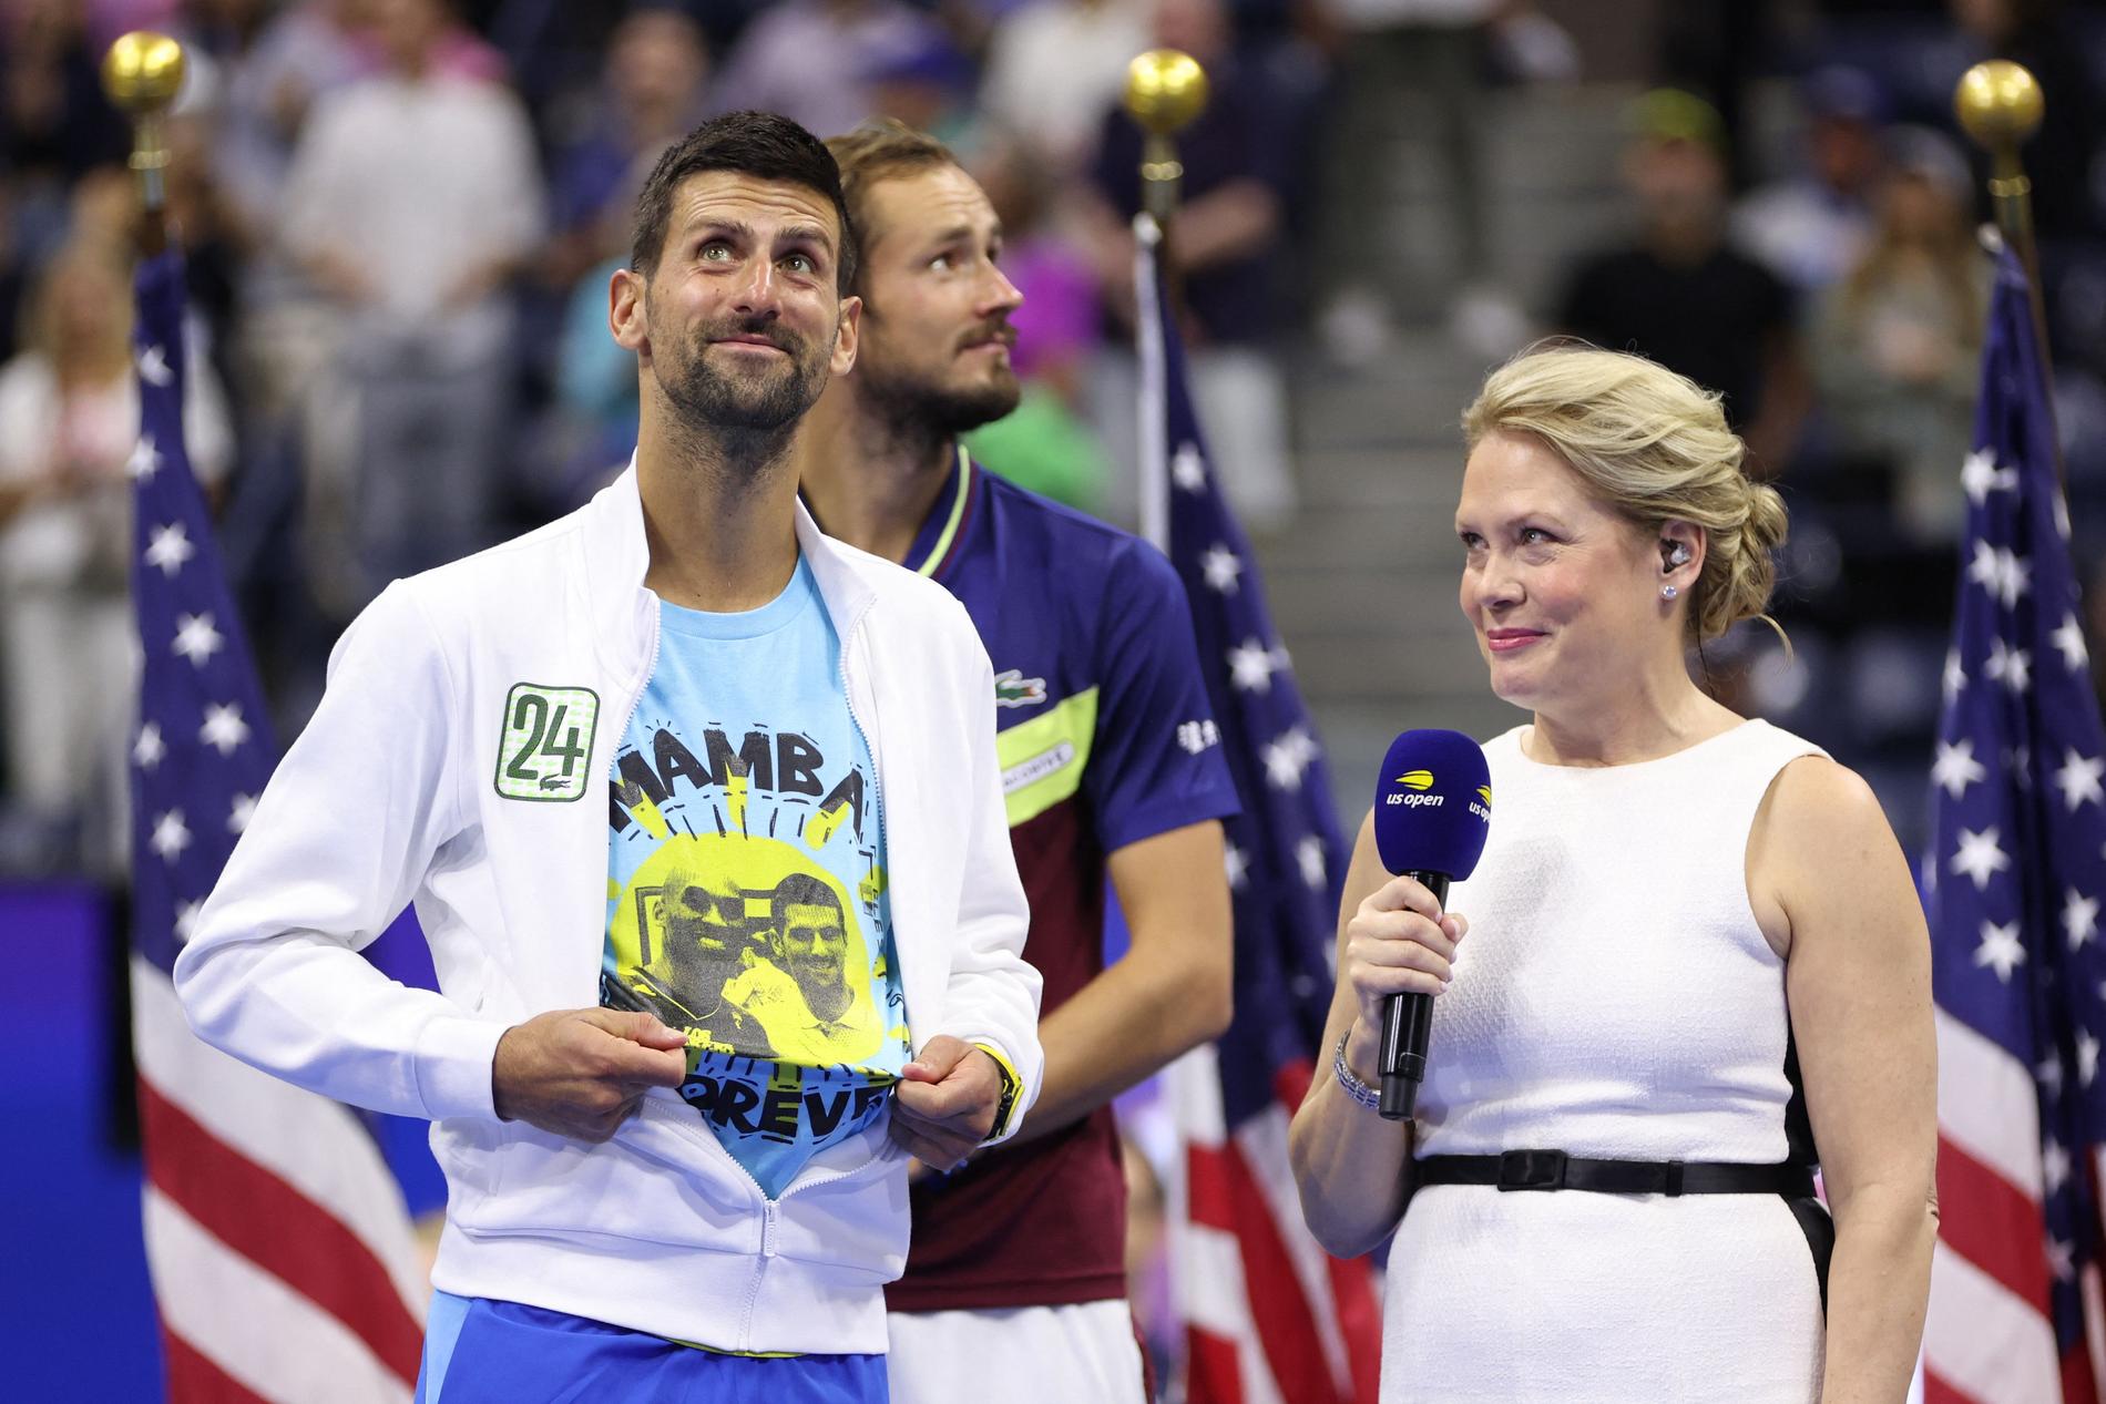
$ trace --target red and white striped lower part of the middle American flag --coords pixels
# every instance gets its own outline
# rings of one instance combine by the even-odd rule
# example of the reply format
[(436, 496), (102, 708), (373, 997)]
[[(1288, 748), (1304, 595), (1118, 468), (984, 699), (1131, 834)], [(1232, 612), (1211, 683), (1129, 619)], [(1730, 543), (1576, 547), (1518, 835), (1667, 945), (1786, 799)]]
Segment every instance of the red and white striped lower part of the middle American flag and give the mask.
[(1274, 1090), (1285, 1095), (1234, 1137), (1211, 1046), (1179, 1059), (1171, 1086), (1186, 1149), (1171, 1252), (1188, 1404), (1373, 1404), (1373, 1276), (1310, 1238), (1287, 1160), (1308, 1067), (1283, 1069)]

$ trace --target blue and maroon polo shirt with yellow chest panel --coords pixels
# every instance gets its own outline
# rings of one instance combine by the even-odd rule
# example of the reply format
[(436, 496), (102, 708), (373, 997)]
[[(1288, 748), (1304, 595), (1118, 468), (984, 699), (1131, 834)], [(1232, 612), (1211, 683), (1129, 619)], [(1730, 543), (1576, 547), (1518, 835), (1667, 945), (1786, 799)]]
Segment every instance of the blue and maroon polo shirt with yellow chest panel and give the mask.
[[(823, 526), (823, 524), (821, 524)], [(1053, 1012), (1104, 970), (1106, 857), (1236, 813), (1184, 585), (1146, 541), (975, 467), (960, 450), (906, 558), (994, 661), (996, 756)], [(914, 1185), (895, 1311), (1127, 1295), (1110, 1107)]]

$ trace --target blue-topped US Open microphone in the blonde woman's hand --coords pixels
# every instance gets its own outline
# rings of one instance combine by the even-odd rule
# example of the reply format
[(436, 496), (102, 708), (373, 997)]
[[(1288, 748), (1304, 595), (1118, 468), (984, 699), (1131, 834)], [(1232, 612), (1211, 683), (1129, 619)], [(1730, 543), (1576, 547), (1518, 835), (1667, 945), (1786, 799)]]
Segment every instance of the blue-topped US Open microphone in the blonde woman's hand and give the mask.
[[(1375, 783), (1375, 848), (1398, 878), (1417, 878), (1447, 909), (1447, 888), (1468, 878), (1491, 829), (1491, 770), (1485, 751), (1459, 730), (1407, 730), (1390, 743)], [(1382, 1002), (1382, 1116), (1411, 1118), (1426, 1080), (1426, 1038), (1434, 1025), (1430, 994), (1392, 994)]]

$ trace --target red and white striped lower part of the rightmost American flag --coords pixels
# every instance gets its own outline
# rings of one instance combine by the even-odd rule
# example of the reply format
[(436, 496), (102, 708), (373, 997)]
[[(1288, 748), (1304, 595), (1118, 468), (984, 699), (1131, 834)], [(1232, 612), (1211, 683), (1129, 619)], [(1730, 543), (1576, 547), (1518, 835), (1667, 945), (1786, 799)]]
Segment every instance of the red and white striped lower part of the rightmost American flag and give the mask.
[[(1927, 1404), (2060, 1404), (2032, 1069), (1938, 1010), (1938, 1206)], [(2072, 1175), (2083, 1175), (2079, 1162)], [(2089, 1379), (2089, 1362), (2077, 1370)]]

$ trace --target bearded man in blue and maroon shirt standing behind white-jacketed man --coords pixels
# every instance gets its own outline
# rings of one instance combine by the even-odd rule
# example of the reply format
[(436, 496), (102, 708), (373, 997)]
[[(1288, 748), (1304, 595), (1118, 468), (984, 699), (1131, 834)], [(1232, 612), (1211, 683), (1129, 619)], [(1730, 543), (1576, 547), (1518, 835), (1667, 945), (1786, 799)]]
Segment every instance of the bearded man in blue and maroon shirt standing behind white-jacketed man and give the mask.
[[(937, 141), (897, 124), (828, 143), (866, 261), (861, 347), (800, 442), (821, 528), (933, 577), (994, 663), (996, 760), (1045, 977), (1045, 1090), (1015, 1149), (914, 1183), (887, 1290), (897, 1400), (1139, 1404), (1112, 1099), (1230, 1012), (1219, 819), (1236, 810), (1190, 606), (1148, 543), (967, 459), (1017, 404), (1000, 223)], [(1104, 960), (1106, 878), (1131, 930)]]

